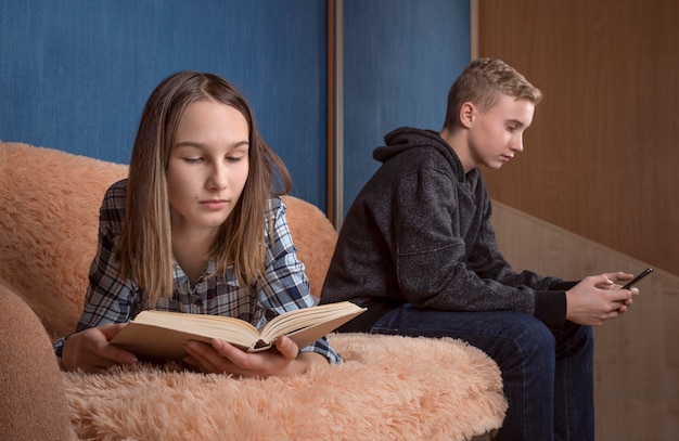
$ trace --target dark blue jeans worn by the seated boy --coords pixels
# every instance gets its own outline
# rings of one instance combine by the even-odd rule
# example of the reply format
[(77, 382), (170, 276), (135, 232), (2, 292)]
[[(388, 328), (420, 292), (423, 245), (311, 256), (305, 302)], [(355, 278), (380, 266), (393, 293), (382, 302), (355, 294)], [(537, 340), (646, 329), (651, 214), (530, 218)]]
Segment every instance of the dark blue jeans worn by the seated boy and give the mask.
[(593, 338), (588, 326), (567, 322), (563, 330), (550, 330), (521, 312), (445, 312), (406, 303), (381, 317), (371, 333), (459, 338), (492, 358), (509, 402), (498, 440), (594, 439)]

